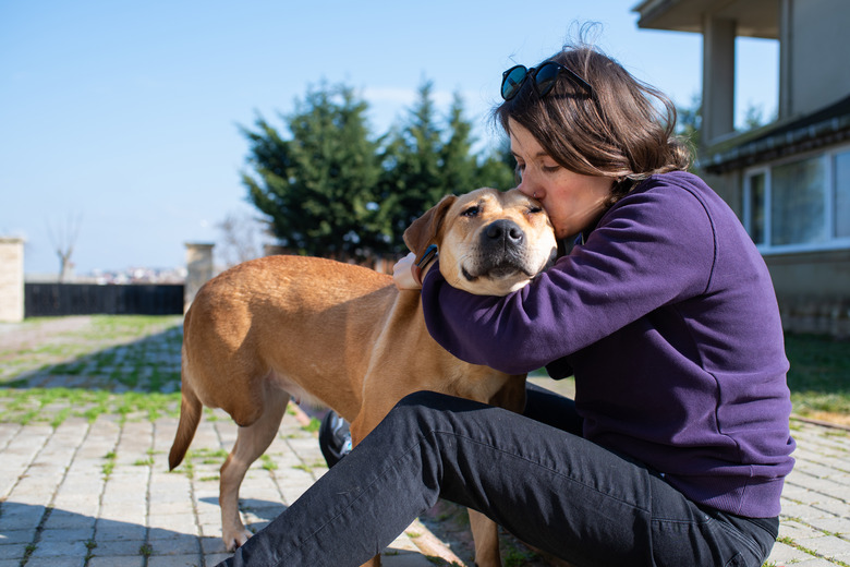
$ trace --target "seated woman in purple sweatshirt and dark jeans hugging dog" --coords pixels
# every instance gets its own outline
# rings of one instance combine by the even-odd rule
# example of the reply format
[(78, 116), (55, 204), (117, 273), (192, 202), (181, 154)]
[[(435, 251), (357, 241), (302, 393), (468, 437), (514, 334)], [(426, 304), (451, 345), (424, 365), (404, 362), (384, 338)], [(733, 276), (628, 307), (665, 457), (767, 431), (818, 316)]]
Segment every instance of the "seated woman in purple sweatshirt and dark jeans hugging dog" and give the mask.
[[(764, 262), (685, 172), (669, 100), (611, 59), (568, 47), (501, 94), (519, 189), (576, 244), (505, 298), (430, 269), (426, 322), (467, 362), (574, 375), (575, 400), (409, 396), (231, 565), (360, 565), (440, 496), (575, 566), (768, 556), (794, 443)], [(396, 277), (420, 285), (410, 257)]]

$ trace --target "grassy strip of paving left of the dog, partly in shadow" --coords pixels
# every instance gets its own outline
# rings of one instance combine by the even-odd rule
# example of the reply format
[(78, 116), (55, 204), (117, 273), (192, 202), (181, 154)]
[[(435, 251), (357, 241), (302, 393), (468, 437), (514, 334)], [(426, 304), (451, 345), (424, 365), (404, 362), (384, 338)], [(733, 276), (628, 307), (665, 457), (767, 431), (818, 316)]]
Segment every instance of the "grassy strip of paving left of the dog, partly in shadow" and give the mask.
[[(27, 319), (23, 328), (48, 322)], [(96, 315), (80, 330), (0, 352), (0, 421), (58, 427), (71, 417), (94, 422), (104, 414), (121, 421), (177, 415), (180, 323), (179, 316)], [(38, 387), (64, 378), (76, 385)]]

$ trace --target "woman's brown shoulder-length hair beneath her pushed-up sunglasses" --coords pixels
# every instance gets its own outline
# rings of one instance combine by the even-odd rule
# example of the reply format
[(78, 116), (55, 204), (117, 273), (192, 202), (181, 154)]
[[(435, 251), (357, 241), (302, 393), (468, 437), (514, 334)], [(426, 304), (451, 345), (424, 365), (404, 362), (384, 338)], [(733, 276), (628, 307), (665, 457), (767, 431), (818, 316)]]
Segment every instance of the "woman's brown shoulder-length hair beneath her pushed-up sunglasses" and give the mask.
[(529, 77), (517, 96), (494, 110), (507, 133), (513, 120), (567, 169), (611, 178), (609, 204), (654, 173), (688, 169), (691, 154), (673, 132), (676, 107), (663, 93), (586, 45), (564, 46), (546, 61), (583, 77), (593, 93), (561, 73), (541, 97)]

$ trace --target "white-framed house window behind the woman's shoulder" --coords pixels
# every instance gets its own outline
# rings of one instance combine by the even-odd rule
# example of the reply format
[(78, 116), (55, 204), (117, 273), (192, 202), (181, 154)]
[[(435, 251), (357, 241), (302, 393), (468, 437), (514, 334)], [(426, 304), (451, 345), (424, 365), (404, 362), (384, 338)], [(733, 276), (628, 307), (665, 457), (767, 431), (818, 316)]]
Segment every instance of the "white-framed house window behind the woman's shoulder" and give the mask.
[(744, 174), (743, 221), (762, 252), (850, 246), (850, 148)]

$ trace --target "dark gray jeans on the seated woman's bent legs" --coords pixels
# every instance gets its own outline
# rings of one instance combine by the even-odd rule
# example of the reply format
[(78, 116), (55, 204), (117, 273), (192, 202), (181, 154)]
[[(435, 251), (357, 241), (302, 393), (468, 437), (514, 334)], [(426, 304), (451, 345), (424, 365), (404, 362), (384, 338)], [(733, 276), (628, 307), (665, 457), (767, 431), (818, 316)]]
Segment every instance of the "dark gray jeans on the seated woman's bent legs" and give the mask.
[(576, 567), (760, 567), (769, 554), (778, 520), (701, 509), (641, 463), (576, 435), (571, 400), (530, 387), (525, 413), (408, 396), (221, 565), (359, 566), (439, 497)]

